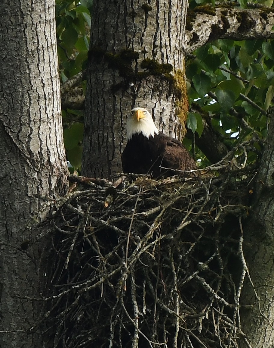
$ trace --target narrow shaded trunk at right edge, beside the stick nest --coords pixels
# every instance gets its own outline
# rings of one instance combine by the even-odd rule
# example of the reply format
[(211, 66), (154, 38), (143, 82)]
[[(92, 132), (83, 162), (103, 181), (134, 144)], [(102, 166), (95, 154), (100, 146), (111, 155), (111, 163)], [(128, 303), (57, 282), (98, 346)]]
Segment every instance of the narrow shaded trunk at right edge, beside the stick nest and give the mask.
[[(252, 348), (273, 347), (274, 342), (274, 112), (268, 139), (258, 173), (256, 199), (250, 211), (250, 222), (244, 228), (250, 276), (254, 286), (246, 282), (242, 304), (243, 332)], [(247, 347), (242, 342), (241, 347)]]

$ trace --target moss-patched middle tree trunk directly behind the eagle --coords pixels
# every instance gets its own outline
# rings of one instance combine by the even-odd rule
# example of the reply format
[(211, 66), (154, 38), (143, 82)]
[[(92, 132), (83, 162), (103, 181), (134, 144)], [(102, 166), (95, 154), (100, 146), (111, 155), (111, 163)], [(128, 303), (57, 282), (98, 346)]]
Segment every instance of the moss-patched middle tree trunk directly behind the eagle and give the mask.
[(165, 134), (180, 137), (188, 111), (184, 79), (187, 1), (93, 2), (82, 173), (122, 171), (126, 115), (149, 110)]

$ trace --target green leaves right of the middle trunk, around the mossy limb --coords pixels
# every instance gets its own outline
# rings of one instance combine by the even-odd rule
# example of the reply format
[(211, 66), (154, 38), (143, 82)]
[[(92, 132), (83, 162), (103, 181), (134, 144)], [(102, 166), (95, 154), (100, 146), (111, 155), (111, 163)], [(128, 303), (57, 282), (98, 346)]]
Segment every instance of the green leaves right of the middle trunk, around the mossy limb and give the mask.
[[(190, 1), (190, 8), (206, 3), (211, 1)], [(257, 3), (263, 2), (252, 2)], [(239, 4), (245, 6), (246, 2), (230, 6)], [(188, 57), (186, 76), (190, 81), (187, 125), (193, 133), (201, 136), (206, 119), (228, 149), (254, 137), (266, 137), (267, 111), (274, 96), (273, 40), (210, 42)], [(259, 143), (255, 147), (261, 150)], [(203, 158), (201, 151), (197, 155)], [(248, 153), (248, 161), (256, 157), (255, 152)]]

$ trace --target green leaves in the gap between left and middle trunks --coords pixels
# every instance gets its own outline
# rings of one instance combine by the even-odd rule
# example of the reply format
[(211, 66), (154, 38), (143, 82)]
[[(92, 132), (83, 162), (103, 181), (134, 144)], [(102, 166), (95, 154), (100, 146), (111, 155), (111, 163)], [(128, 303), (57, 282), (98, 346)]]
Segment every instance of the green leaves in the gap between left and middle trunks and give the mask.
[[(61, 83), (86, 68), (92, 0), (57, 0), (56, 32)], [(82, 82), (83, 90), (85, 81)], [(67, 159), (74, 169), (81, 168), (83, 110), (62, 110)], [(81, 125), (80, 125), (81, 123)]]

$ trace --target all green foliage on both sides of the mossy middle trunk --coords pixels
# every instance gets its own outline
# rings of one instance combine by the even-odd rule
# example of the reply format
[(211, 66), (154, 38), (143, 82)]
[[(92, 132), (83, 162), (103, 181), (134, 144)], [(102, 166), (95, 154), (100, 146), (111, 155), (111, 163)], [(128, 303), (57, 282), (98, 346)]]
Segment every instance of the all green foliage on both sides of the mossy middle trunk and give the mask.
[[(190, 8), (211, 4), (214, 0), (191, 0)], [(221, 1), (221, 4), (223, 2)], [(254, 4), (272, 5), (253, 1)], [(59, 0), (56, 6), (60, 76), (62, 82), (86, 67), (89, 47), (91, 1)], [(247, 6), (245, 1), (231, 6)], [(187, 127), (200, 137), (205, 120), (219, 134), (227, 149), (267, 133), (267, 110), (274, 95), (273, 40), (215, 40), (198, 48), (186, 62), (189, 79), (190, 112)], [(74, 122), (83, 122), (82, 110), (63, 110), (64, 138), (67, 158), (76, 169), (81, 168), (82, 135)], [(66, 130), (67, 129), (67, 130)], [(72, 144), (74, 147), (72, 148)], [(184, 140), (187, 147), (191, 141)], [(259, 141), (255, 149), (261, 151)], [(200, 165), (208, 159), (196, 147)], [(241, 151), (238, 155), (241, 154)], [(248, 162), (257, 160), (256, 151), (248, 152)]]

